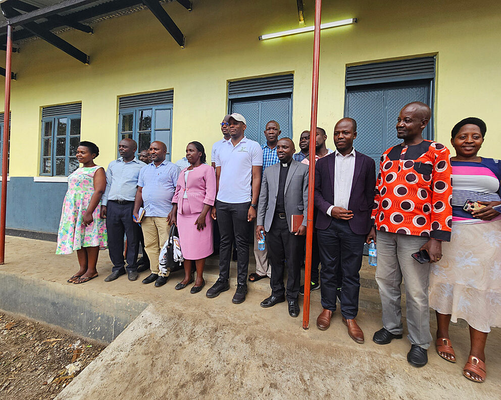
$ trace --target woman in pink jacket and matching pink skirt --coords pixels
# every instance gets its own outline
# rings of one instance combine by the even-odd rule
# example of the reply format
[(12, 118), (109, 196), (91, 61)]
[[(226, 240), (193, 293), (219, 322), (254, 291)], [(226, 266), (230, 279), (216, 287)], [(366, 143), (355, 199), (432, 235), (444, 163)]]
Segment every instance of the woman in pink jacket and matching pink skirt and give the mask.
[(194, 294), (200, 292), (205, 285), (205, 259), (214, 251), (210, 210), (216, 198), (216, 173), (212, 166), (206, 164), (202, 143), (188, 143), (186, 159), (190, 165), (179, 174), (168, 221), (178, 227), (184, 257), (184, 279), (175, 289), (184, 289), (193, 282), (191, 267), (194, 261), (196, 280), (190, 290)]

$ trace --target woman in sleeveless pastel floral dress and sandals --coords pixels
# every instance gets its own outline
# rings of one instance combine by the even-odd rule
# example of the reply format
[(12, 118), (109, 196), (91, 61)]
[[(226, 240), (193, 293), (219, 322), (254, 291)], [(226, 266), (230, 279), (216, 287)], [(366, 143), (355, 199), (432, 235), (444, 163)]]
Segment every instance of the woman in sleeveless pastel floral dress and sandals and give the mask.
[(96, 263), (99, 247), (108, 244), (106, 223), (99, 217), (106, 175), (102, 166), (94, 164), (98, 155), (99, 149), (94, 143), (80, 142), (76, 158), (82, 166), (68, 177), (56, 254), (77, 251), (80, 269), (68, 279), (72, 283), (84, 283), (98, 276)]

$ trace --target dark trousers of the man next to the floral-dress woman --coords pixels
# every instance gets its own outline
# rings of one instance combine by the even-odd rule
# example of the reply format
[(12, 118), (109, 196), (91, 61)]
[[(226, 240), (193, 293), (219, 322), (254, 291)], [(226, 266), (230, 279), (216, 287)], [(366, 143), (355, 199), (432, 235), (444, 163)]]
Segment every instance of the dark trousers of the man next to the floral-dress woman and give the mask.
[(108, 251), (113, 272), (125, 266), (124, 234), (127, 238), (127, 271), (137, 270), (137, 253), (139, 251), (139, 226), (132, 220), (134, 202), (119, 204), (109, 200), (106, 210), (106, 230), (108, 231)]

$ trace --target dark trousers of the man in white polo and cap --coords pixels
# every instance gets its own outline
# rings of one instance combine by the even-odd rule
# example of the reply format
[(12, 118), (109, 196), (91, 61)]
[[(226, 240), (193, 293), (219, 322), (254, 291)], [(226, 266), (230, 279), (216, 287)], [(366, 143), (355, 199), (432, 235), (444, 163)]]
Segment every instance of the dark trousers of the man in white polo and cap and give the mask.
[(247, 213), (250, 201), (246, 203), (223, 203), (216, 201), (216, 215), (221, 242), (219, 245), (219, 280), (227, 282), (230, 277), (230, 261), (233, 238), (237, 249), (237, 282), (247, 286), (249, 267), (249, 224)]

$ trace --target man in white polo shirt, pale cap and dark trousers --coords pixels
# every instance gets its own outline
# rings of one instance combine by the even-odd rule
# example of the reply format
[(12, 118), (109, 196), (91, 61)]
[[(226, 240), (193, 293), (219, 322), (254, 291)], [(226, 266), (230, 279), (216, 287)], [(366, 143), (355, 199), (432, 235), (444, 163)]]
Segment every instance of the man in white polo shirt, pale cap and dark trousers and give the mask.
[(263, 149), (258, 142), (244, 136), (245, 118), (233, 113), (228, 119), (231, 139), (224, 142), (216, 154), (218, 194), (212, 216), (217, 217), (221, 244), (219, 248), (219, 279), (207, 291), (207, 297), (219, 296), (230, 289), (231, 244), (235, 238), (237, 289), (232, 302), (243, 303), (247, 294), (249, 264), (249, 229), (256, 218), (256, 206), (261, 188)]

